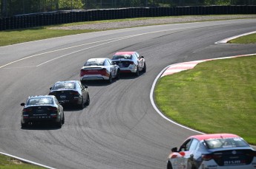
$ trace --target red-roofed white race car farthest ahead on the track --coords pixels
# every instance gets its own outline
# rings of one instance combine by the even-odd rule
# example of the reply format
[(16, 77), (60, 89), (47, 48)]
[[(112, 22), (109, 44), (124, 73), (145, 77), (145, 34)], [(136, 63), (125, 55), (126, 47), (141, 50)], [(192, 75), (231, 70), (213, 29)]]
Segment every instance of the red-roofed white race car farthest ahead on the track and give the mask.
[(147, 69), (144, 56), (138, 52), (116, 52), (112, 61), (119, 66), (121, 73), (139, 76), (140, 72), (146, 72)]

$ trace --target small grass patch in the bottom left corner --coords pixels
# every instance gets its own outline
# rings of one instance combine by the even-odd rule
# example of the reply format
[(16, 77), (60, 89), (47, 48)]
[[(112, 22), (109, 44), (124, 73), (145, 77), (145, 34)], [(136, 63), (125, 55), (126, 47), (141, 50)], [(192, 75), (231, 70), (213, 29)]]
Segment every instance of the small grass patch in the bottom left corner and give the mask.
[(42, 167), (36, 165), (30, 165), (24, 162), (14, 159), (10, 156), (0, 155), (0, 168), (1, 169), (40, 169)]

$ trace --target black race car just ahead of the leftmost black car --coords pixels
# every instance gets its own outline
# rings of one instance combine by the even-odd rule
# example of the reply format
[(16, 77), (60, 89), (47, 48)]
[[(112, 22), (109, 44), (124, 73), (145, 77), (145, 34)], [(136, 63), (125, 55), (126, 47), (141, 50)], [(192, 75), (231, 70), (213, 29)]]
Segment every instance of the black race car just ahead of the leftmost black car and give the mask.
[(79, 80), (58, 81), (50, 87), (49, 95), (54, 95), (62, 105), (74, 105), (84, 108), (90, 104), (88, 86)]

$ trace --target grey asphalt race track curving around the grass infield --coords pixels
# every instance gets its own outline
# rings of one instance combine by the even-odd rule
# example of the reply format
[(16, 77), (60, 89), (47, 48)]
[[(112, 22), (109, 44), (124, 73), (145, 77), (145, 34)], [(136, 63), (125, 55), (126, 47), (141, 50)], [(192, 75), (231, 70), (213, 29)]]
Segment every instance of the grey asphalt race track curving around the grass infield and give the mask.
[[(165, 168), (170, 149), (197, 134), (168, 122), (151, 105), (151, 86), (168, 65), (255, 53), (255, 44), (214, 44), (256, 30), (256, 19), (168, 24), (94, 32), (0, 47), (0, 152), (51, 168)], [(22, 129), (30, 95), (57, 80), (79, 80), (88, 58), (116, 51), (145, 56), (147, 72), (108, 84), (87, 83), (91, 104), (65, 108), (65, 125)], [(189, 117), (189, 112), (188, 112)]]

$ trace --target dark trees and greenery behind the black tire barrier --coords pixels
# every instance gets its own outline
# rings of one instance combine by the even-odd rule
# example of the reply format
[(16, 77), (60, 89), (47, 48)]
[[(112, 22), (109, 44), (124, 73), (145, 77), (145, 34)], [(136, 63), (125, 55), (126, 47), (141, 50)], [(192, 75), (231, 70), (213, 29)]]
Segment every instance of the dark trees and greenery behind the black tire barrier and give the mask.
[(203, 5), (256, 5), (256, 0), (0, 0), (0, 17), (58, 10)]

